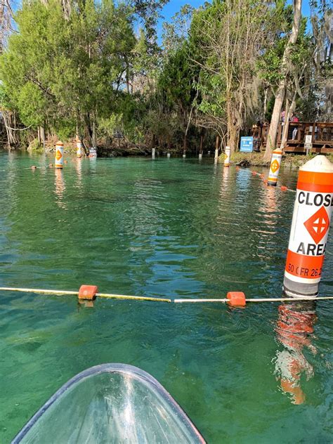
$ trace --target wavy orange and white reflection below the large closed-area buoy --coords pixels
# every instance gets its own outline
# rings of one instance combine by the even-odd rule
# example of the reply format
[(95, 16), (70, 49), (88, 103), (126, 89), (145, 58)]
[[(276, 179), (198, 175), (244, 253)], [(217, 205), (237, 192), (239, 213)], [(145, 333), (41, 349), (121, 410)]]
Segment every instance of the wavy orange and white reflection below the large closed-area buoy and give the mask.
[(278, 311), (275, 332), (283, 349), (276, 353), (275, 374), (280, 380), (282, 391), (290, 393), (292, 403), (302, 404), (306, 396), (301, 387), (301, 377), (304, 374), (308, 381), (314, 374), (313, 366), (308, 363), (303, 352), (308, 348), (313, 355), (317, 353), (311, 344), (313, 326), (317, 320), (315, 302), (282, 304)]

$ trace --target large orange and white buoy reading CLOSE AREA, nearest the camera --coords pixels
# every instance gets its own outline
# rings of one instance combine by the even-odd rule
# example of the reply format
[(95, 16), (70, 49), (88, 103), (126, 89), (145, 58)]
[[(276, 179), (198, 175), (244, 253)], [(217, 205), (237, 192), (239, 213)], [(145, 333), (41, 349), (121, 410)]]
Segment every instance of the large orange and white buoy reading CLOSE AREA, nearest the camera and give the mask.
[(333, 164), (318, 155), (299, 169), (283, 288), (318, 296), (333, 205)]

